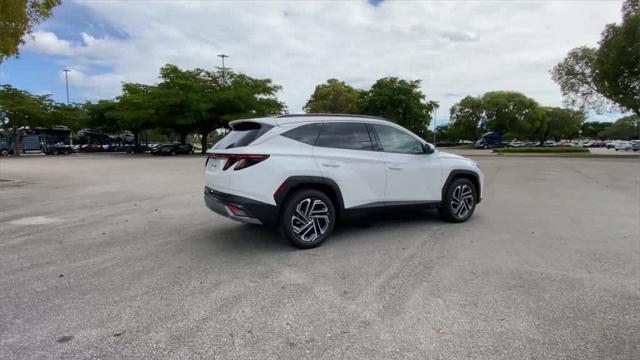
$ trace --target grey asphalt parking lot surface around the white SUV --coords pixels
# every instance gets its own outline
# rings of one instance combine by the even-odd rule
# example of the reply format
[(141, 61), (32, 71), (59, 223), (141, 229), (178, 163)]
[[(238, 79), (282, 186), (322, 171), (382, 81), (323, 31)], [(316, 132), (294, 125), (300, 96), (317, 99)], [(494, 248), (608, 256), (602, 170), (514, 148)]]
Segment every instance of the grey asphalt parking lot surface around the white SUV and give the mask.
[(200, 156), (0, 159), (0, 358), (640, 359), (640, 160), (477, 161), (469, 222), (301, 251), (206, 209)]

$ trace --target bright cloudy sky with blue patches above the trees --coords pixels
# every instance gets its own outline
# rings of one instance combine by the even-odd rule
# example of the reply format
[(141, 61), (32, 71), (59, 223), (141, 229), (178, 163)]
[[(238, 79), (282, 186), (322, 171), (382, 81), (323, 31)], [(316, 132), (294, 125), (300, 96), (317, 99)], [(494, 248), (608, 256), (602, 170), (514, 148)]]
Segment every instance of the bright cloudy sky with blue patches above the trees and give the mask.
[[(377, 79), (421, 80), (449, 108), (466, 95), (523, 92), (560, 106), (549, 70), (595, 46), (620, 22), (621, 1), (63, 1), (0, 69), (3, 83), (71, 102), (113, 98), (122, 82), (155, 83), (159, 68), (225, 65), (283, 89), (302, 112), (317, 84), (367, 89)], [(620, 114), (590, 114), (615, 120)]]

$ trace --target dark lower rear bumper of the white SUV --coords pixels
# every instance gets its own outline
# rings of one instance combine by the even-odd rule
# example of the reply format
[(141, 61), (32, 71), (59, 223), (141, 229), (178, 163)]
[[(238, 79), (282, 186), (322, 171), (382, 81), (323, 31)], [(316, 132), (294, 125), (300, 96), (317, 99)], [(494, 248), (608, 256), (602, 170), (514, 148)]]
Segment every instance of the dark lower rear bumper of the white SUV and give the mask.
[[(204, 202), (212, 211), (236, 221), (265, 225), (273, 225), (278, 221), (278, 208), (275, 205), (223, 193), (208, 186), (204, 188)], [(232, 208), (241, 210), (240, 213), (244, 215), (234, 213)]]

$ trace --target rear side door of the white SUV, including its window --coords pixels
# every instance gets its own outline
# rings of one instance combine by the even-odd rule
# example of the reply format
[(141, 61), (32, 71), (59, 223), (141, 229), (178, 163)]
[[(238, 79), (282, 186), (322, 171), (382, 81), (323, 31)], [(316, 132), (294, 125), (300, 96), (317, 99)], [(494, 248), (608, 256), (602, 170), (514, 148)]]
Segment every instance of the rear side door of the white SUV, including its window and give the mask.
[(322, 175), (340, 188), (345, 208), (384, 201), (385, 162), (365, 123), (325, 123), (313, 155)]

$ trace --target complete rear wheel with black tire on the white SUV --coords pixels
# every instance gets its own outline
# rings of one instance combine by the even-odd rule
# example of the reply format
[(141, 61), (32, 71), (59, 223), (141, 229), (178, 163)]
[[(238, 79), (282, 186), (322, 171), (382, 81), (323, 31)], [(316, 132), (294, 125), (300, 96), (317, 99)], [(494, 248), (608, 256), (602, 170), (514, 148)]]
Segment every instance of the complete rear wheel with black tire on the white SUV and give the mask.
[(335, 206), (323, 192), (301, 189), (285, 202), (280, 216), (280, 231), (289, 242), (300, 249), (322, 244), (336, 223)]

